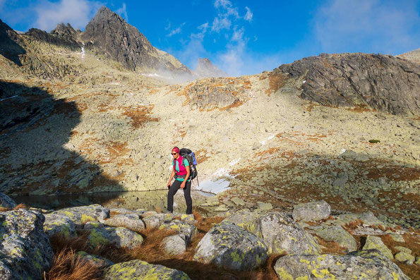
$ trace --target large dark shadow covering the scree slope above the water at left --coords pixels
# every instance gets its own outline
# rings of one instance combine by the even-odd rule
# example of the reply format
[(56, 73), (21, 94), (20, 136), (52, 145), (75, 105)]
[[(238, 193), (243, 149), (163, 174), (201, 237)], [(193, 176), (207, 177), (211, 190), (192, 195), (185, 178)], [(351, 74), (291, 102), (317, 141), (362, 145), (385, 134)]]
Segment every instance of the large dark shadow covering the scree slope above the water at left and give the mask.
[[(0, 81), (0, 92), (1, 192), (31, 195), (25, 199), (31, 205), (33, 195), (86, 193), (101, 188), (124, 191), (68, 142), (80, 123), (81, 114), (74, 102), (54, 99), (40, 87), (6, 81)], [(95, 196), (82, 198), (79, 205), (92, 203)], [(59, 200), (57, 197), (57, 203)]]

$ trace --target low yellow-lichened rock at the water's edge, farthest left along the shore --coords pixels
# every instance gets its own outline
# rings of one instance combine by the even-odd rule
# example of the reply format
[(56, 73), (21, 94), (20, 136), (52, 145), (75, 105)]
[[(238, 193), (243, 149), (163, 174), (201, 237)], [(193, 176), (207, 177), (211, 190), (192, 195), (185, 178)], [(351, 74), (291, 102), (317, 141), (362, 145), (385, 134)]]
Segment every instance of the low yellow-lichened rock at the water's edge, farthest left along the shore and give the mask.
[(109, 217), (109, 209), (97, 204), (60, 209), (53, 213), (67, 216), (76, 226), (82, 226), (88, 221), (99, 221)]

